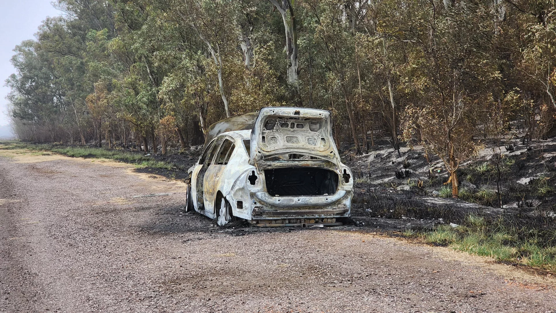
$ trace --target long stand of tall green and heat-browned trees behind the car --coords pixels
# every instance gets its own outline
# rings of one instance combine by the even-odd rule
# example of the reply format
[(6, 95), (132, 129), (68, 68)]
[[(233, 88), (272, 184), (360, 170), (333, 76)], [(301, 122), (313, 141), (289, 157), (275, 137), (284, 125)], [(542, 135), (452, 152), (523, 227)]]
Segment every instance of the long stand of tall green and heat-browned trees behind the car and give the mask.
[[(338, 144), (422, 143), (453, 174), (510, 122), (550, 135), (553, 0), (58, 0), (6, 81), (19, 138), (198, 145), (264, 106), (330, 110)], [(454, 195), (457, 195), (455, 189)]]

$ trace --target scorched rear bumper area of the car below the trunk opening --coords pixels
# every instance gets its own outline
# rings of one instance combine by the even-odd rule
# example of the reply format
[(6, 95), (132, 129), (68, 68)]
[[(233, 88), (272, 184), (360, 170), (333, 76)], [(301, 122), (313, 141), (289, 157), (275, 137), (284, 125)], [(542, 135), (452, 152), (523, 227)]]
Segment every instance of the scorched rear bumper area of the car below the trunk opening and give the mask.
[[(335, 217), (347, 217), (350, 216), (351, 213), (351, 198), (353, 197), (353, 192), (345, 191), (342, 193), (343, 194), (340, 198), (336, 199), (336, 201), (332, 203), (326, 203), (326, 205), (311, 205), (310, 201), (305, 201), (304, 203), (299, 203), (300, 206), (287, 207), (276, 206), (265, 201), (261, 201), (260, 196), (254, 197), (259, 201), (256, 202), (256, 205), (251, 212), (251, 218), (252, 220), (322, 220)], [(320, 201), (317, 200), (315, 202), (318, 203)]]

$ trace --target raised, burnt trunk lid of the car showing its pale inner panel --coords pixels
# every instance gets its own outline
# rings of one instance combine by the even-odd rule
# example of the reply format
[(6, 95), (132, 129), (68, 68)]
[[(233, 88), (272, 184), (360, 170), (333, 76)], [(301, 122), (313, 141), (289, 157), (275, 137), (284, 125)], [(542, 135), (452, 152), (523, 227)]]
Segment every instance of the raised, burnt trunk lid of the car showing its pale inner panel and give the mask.
[(251, 132), (251, 164), (299, 154), (339, 163), (330, 112), (300, 107), (266, 107)]

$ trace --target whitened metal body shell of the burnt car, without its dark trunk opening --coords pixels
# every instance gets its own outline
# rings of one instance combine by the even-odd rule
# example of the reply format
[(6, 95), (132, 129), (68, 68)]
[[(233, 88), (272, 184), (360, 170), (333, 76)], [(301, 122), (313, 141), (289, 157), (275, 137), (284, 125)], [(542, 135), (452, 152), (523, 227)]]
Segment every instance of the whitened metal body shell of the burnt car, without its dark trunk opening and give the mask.
[[(250, 118), (255, 117), (250, 113)], [(279, 126), (261, 126), (265, 121), (272, 124), (282, 121), (282, 125), (294, 121), (292, 125), (314, 125), (321, 127), (296, 129), (284, 127), (286, 133), (280, 132)], [(336, 218), (350, 215), (353, 197), (353, 176), (347, 166), (340, 161), (330, 130), (330, 112), (307, 108), (263, 108), (252, 122), (252, 129), (233, 130), (237, 126), (220, 128), (207, 137), (205, 149), (196, 165), (189, 169), (191, 181), (191, 198), (195, 211), (210, 218), (217, 218), (220, 201), (225, 199), (231, 208), (231, 214), (243, 218), (258, 226), (289, 226), (322, 223), (337, 225)], [(217, 124), (217, 123), (215, 123)], [(249, 128), (250, 125), (243, 128)], [(299, 126), (299, 125), (298, 125)], [(270, 129), (267, 129), (270, 128)], [(305, 127), (307, 128), (307, 127)], [(230, 130), (232, 129), (232, 130)], [(294, 135), (291, 135), (294, 134)], [(290, 136), (291, 135), (291, 136)], [(265, 136), (271, 138), (301, 138), (297, 141), (315, 143), (321, 136), (318, 146), (304, 142), (291, 144), (280, 143), (279, 139), (265, 145)], [(269, 137), (270, 136), (270, 137)], [(315, 137), (315, 138), (313, 138)], [(261, 139), (262, 138), (262, 139)], [(233, 145), (233, 151), (225, 159), (224, 144)], [(244, 142), (249, 142), (246, 147)], [(317, 143), (315, 143), (317, 145)], [(213, 152), (216, 151), (216, 152)], [(310, 156), (304, 160), (281, 160), (287, 153), (299, 153)], [(278, 157), (276, 157), (278, 156)], [(294, 155), (295, 156), (295, 155)], [(220, 162), (219, 162), (220, 161)], [(335, 172), (338, 177), (337, 190), (334, 194), (306, 196), (270, 195), (265, 185), (265, 170), (276, 168), (321, 168)]]

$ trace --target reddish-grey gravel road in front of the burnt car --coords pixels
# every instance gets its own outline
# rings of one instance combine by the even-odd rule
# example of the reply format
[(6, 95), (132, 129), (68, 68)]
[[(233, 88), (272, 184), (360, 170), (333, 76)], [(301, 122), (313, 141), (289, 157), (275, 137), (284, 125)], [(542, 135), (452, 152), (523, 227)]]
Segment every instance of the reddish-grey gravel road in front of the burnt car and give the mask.
[(0, 154), (0, 311), (556, 312), (554, 280), (487, 259), (348, 227), (214, 229), (178, 181)]

